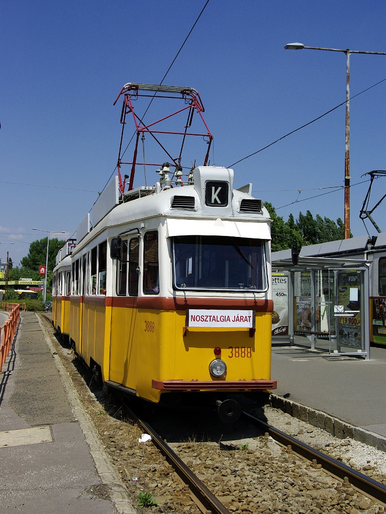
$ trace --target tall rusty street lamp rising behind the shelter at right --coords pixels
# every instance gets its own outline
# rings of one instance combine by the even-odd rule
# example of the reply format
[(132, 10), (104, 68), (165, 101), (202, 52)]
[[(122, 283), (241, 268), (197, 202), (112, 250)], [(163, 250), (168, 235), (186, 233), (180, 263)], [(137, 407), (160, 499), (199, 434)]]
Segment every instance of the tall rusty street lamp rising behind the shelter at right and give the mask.
[(360, 50), (346, 50), (339, 48), (319, 48), (317, 46), (304, 46), (303, 43), (289, 43), (286, 50), (328, 50), (346, 54), (346, 145), (344, 159), (344, 238), (350, 237), (350, 53), (373, 53), (386, 56), (386, 52), (362, 52)]

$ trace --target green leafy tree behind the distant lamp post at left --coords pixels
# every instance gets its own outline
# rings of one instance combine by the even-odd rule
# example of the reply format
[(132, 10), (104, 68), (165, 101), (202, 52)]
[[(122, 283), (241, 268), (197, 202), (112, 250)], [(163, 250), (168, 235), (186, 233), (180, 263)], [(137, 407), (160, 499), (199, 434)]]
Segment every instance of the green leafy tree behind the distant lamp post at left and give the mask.
[[(56, 237), (49, 240), (48, 244), (48, 269), (47, 273), (52, 272), (55, 268), (55, 258), (58, 251), (62, 248), (65, 241), (58, 240)], [(28, 255), (21, 260), (21, 276), (28, 277), (32, 280), (39, 280), (39, 266), (46, 263), (47, 255), (47, 237), (32, 241), (29, 245)]]

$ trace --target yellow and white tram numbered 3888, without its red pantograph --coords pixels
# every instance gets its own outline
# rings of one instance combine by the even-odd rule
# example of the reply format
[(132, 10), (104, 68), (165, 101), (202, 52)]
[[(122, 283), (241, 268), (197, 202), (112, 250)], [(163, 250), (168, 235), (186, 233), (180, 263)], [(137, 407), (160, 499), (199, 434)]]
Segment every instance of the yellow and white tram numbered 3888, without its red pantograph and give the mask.
[[(232, 170), (199, 167), (193, 176), (184, 188), (129, 191), (97, 213), (92, 231), (81, 224), (66, 258), (71, 295), (54, 301), (54, 324), (68, 326), (85, 363), (108, 386), (152, 402), (276, 387), (268, 211), (233, 190)], [(229, 190), (225, 206), (216, 205), (215, 189), (215, 205), (205, 203), (213, 179)], [(186, 277), (178, 278), (182, 268)], [(59, 263), (54, 283), (60, 270)]]

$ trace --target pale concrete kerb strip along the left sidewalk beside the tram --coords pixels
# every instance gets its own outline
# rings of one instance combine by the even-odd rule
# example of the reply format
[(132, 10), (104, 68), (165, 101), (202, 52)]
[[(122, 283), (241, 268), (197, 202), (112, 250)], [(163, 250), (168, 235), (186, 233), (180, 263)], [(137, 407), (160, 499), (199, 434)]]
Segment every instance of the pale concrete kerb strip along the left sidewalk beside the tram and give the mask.
[(110, 497), (119, 514), (136, 514), (136, 510), (129, 499), (128, 491), (125, 485), (121, 482), (120, 476), (114, 469), (113, 464), (110, 462), (109, 457), (104, 451), (99, 436), (96, 433), (90, 418), (83, 409), (78, 394), (74, 389), (72, 380), (65, 370), (60, 356), (56, 353), (50, 337), (43, 326), (42, 320), (37, 314), (36, 317), (38, 318), (39, 325), (42, 329), (49, 351), (51, 352), (52, 357), (54, 357), (56, 368), (63, 382), (64, 389), (72, 406), (75, 418), (77, 419), (86, 442), (90, 447), (90, 453), (94, 460), (95, 468), (101, 482), (110, 487)]

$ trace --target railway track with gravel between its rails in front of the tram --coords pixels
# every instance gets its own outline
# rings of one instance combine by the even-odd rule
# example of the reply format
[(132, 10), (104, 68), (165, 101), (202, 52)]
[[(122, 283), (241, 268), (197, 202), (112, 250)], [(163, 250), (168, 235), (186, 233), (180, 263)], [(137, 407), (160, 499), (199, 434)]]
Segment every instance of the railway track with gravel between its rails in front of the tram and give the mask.
[[(45, 318), (47, 319), (47, 321), (50, 322), (48, 317), (45, 316)], [(333, 495), (335, 494), (335, 496), (339, 498), (339, 502), (340, 502), (341, 507), (343, 508), (343, 512), (350, 511), (349, 509), (344, 510), (343, 503), (346, 503), (346, 505), (347, 505), (347, 497), (349, 497), (350, 494), (353, 494), (353, 488), (356, 489), (357, 491), (360, 491), (362, 494), (365, 495), (365, 497), (371, 498), (371, 499), (375, 500), (376, 502), (378, 502), (379, 504), (384, 505), (386, 503), (386, 486), (385, 485), (377, 482), (376, 480), (370, 478), (369, 476), (366, 476), (365, 474), (360, 473), (359, 471), (356, 471), (355, 469), (350, 468), (349, 466), (344, 465), (343, 463), (340, 463), (339, 461), (335, 460), (334, 458), (330, 457), (329, 455), (326, 455), (325, 453), (322, 453), (322, 452), (308, 446), (307, 444), (300, 442), (299, 440), (295, 439), (294, 437), (291, 437), (290, 435), (286, 434), (285, 432), (282, 432), (282, 431), (272, 427), (271, 425), (252, 416), (251, 414), (249, 414), (247, 412), (242, 413), (243, 421), (247, 420), (248, 423), (256, 425), (257, 428), (259, 429), (260, 434), (264, 434), (264, 433), (266, 434), (265, 436), (263, 435), (260, 437), (256, 437), (256, 439), (260, 440), (260, 443), (258, 444), (258, 446), (260, 446), (260, 448), (259, 449), (256, 448), (256, 450), (253, 450), (251, 448), (250, 451), (248, 451), (248, 452), (229, 451), (229, 453), (227, 453), (226, 451), (224, 452), (223, 450), (235, 450), (236, 446), (232, 447), (232, 445), (231, 445), (230, 447), (227, 448), (226, 445), (221, 445), (221, 444), (217, 445), (217, 443), (213, 444), (212, 448), (213, 447), (217, 448), (217, 456), (218, 456), (217, 462), (219, 463), (215, 467), (216, 468), (215, 474), (218, 474), (221, 476), (217, 483), (215, 483), (214, 481), (211, 482), (210, 476), (205, 474), (205, 471), (202, 470), (202, 466), (198, 466), (196, 464), (197, 460), (195, 460), (195, 463), (193, 463), (193, 461), (192, 461), (192, 459), (194, 460), (194, 455), (195, 455), (194, 452), (197, 453), (198, 446), (202, 446), (202, 449), (201, 449), (202, 453), (199, 455), (199, 457), (201, 458), (201, 461), (206, 460), (206, 457), (208, 455), (208, 448), (207, 447), (205, 448), (205, 443), (190, 445), (193, 447), (193, 449), (191, 450), (191, 452), (192, 452), (191, 453), (192, 457), (191, 457), (191, 455), (188, 454), (187, 452), (184, 453), (184, 451), (185, 451), (185, 449), (183, 448), (184, 444), (178, 444), (178, 443), (170, 443), (170, 445), (167, 444), (165, 442), (165, 440), (163, 440), (162, 437), (160, 437), (160, 435), (158, 435), (155, 432), (155, 430), (153, 430), (153, 428), (148, 423), (146, 423), (145, 421), (143, 421), (141, 419), (138, 419), (138, 416), (127, 405), (127, 402), (124, 398), (122, 398), (122, 395), (119, 395), (119, 396), (115, 395), (115, 396), (116, 396), (116, 399), (119, 400), (119, 403), (120, 402), (122, 403), (122, 406), (125, 408), (125, 410), (128, 411), (129, 416), (135, 421), (135, 423), (138, 425), (138, 427), (142, 427), (142, 430), (144, 432), (151, 435), (154, 446), (160, 451), (161, 455), (164, 456), (163, 457), (164, 465), (165, 465), (166, 469), (169, 471), (170, 475), (173, 475), (173, 473), (178, 475), (178, 477), (180, 479), (180, 484), (181, 483), (183, 484), (181, 487), (181, 490), (182, 490), (181, 494), (188, 495), (188, 496), (190, 495), (190, 499), (197, 505), (197, 508), (204, 514), (209, 514), (209, 512), (213, 512), (214, 514), (215, 513), (216, 514), (217, 513), (230, 514), (230, 512), (231, 513), (239, 512), (239, 511), (241, 512), (241, 507), (243, 506), (243, 502), (248, 501), (249, 498), (248, 498), (248, 496), (243, 497), (240, 494), (239, 494), (239, 496), (237, 496), (237, 493), (233, 492), (233, 489), (235, 487), (237, 488), (236, 483), (239, 480), (239, 476), (242, 476), (243, 471), (245, 469), (247, 469), (248, 467), (250, 467), (250, 469), (259, 467), (259, 469), (254, 470), (255, 471), (254, 476), (253, 476), (253, 474), (251, 476), (252, 476), (252, 481), (255, 481), (258, 485), (258, 487), (256, 488), (257, 493), (260, 493), (261, 491), (264, 493), (264, 485), (261, 485), (262, 482), (264, 482), (264, 480), (263, 480), (264, 474), (271, 473), (273, 468), (276, 466), (276, 461), (280, 461), (280, 460), (281, 460), (282, 464), (279, 463), (278, 466), (282, 466), (282, 468), (285, 467), (286, 474), (282, 475), (281, 478), (279, 478), (277, 480), (276, 486), (272, 485), (272, 488), (274, 489), (276, 487), (276, 493), (283, 497), (282, 501), (283, 501), (284, 505), (286, 504), (286, 502), (290, 503), (290, 499), (286, 497), (286, 491), (281, 490), (282, 489), (281, 486), (286, 481), (287, 481), (286, 486), (288, 485), (288, 481), (290, 481), (292, 479), (294, 482), (296, 482), (297, 486), (295, 484), (293, 489), (295, 489), (295, 488), (297, 489), (297, 495), (299, 495), (299, 494), (301, 494), (301, 495), (308, 494), (309, 495), (309, 491), (306, 488), (304, 490), (302, 488), (299, 488), (299, 484), (301, 482), (303, 484), (306, 483), (306, 479), (308, 479), (308, 477), (306, 477), (305, 475), (308, 472), (302, 471), (302, 473), (298, 473), (298, 475), (296, 475), (296, 474), (291, 474), (291, 472), (289, 470), (289, 468), (291, 468), (291, 467), (300, 469), (301, 466), (304, 466), (306, 469), (307, 469), (307, 467), (311, 468), (310, 471), (315, 472), (314, 476), (316, 476), (317, 471), (319, 471), (319, 470), (321, 470), (321, 468), (323, 468), (324, 471), (326, 471), (329, 475), (331, 475), (333, 480), (338, 479), (339, 481), (342, 482), (342, 485), (340, 483), (338, 483), (335, 486), (336, 491), (334, 491), (334, 489), (332, 489), (332, 494)], [(118, 403), (116, 404), (116, 407), (119, 407)], [(254, 430), (254, 429), (252, 428), (251, 430)], [(162, 430), (161, 430), (161, 432), (162, 432)], [(104, 432), (104, 433), (106, 434), (106, 432)], [(269, 435), (270, 437), (267, 437), (267, 435)], [(277, 455), (277, 454), (274, 455), (271, 451), (269, 451), (269, 450), (272, 450), (272, 448), (269, 448), (269, 446), (268, 446), (269, 439), (271, 439), (271, 438), (280, 445), (280, 448), (282, 448), (281, 456)], [(119, 437), (115, 437), (115, 439), (118, 440)], [(176, 439), (174, 439), (174, 440), (176, 440)], [(114, 446), (118, 446), (118, 445), (114, 443)], [(182, 455), (182, 458), (175, 451), (173, 451), (171, 446), (173, 446), (173, 448), (176, 449), (180, 455)], [(248, 446), (248, 445), (246, 445), (246, 446)], [(277, 448), (279, 448), (279, 447), (277, 447)], [(240, 448), (238, 448), (238, 450), (240, 450)], [(141, 452), (140, 449), (138, 449), (138, 451)], [(304, 463), (304, 459), (307, 459), (310, 462), (310, 466), (306, 466), (305, 464), (301, 465), (299, 463), (297, 463), (295, 465), (294, 456), (296, 454), (299, 455), (300, 457), (302, 457), (302, 458), (299, 458), (299, 462)], [(121, 457), (125, 458), (125, 456), (127, 457), (127, 455), (125, 455), (125, 449), (122, 449)], [(231, 458), (227, 458), (227, 456), (230, 456)], [(121, 457), (116, 456), (116, 455), (113, 457), (113, 460), (118, 464), (118, 466), (119, 466), (119, 460)], [(183, 458), (186, 463), (183, 461)], [(129, 457), (129, 460), (130, 460), (130, 457)], [(227, 463), (227, 461), (230, 461), (230, 460), (238, 461), (238, 462), (244, 461), (245, 468), (241, 469), (243, 466), (243, 464), (241, 463), (241, 466), (236, 468), (237, 470), (235, 471), (235, 468), (233, 467), (234, 464), (231, 465), (231, 464)], [(192, 461), (192, 462), (190, 463), (189, 461)], [(283, 464), (284, 462), (286, 464)], [(288, 466), (287, 463), (292, 463), (292, 464), (290, 464)], [(223, 479), (222, 479), (223, 473), (221, 470), (221, 466), (223, 466), (224, 470), (227, 467), (230, 468), (227, 470), (230, 472), (229, 476), (224, 476)], [(192, 471), (192, 469), (195, 469), (195, 472)], [(241, 469), (241, 471), (240, 471), (240, 469)], [(256, 471), (257, 471), (257, 473), (256, 473)], [(213, 471), (211, 471), (211, 472), (213, 473)], [(199, 476), (197, 476), (196, 473), (198, 473)], [(279, 474), (277, 471), (273, 471), (274, 476), (275, 475), (277, 476), (277, 474)], [(329, 481), (331, 484), (332, 480), (328, 478), (328, 474), (325, 474), (324, 480)], [(125, 473), (124, 473), (124, 476), (125, 476)], [(291, 477), (292, 477), (292, 479), (291, 479)], [(297, 481), (296, 478), (299, 478), (300, 480)], [(221, 485), (223, 485), (223, 484), (221, 484), (222, 480), (224, 483), (229, 484), (229, 491), (227, 491), (226, 493), (222, 492), (225, 488), (222, 488), (222, 490), (221, 490)], [(315, 483), (315, 482), (318, 482), (318, 480), (320, 481), (323, 479), (321, 479), (319, 476), (318, 479), (311, 479), (311, 480), (314, 480), (314, 483)], [(251, 479), (249, 479), (249, 481), (251, 482)], [(247, 482), (248, 482), (248, 480), (247, 480)], [(271, 482), (274, 484), (275, 480), (270, 479), (270, 482), (268, 485), (269, 488), (271, 488)], [(220, 484), (220, 485), (218, 485), (218, 484)], [(150, 484), (146, 485), (146, 483), (143, 483), (142, 485), (145, 488), (150, 486)], [(279, 487), (277, 487), (277, 485), (279, 485)], [(167, 488), (167, 487), (168, 486), (165, 485), (165, 488)], [(315, 485), (315, 489), (317, 489), (317, 487), (318, 486)], [(334, 485), (327, 485), (325, 487), (334, 488)], [(242, 488), (245, 488), (245, 485), (242, 485)], [(257, 489), (259, 489), (259, 490), (257, 490)], [(290, 489), (292, 489), (292, 488), (290, 488)], [(300, 491), (303, 490), (303, 492), (299, 493), (299, 489), (300, 489)], [(159, 491), (158, 488), (156, 490)], [(252, 494), (256, 495), (256, 491), (255, 492), (252, 491)], [(330, 489), (330, 491), (331, 491), (331, 489)], [(161, 490), (161, 492), (162, 492), (162, 490)], [(291, 491), (291, 493), (292, 492), (296, 492), (296, 491)], [(310, 492), (312, 493), (313, 491), (310, 491)], [(283, 494), (283, 493), (285, 493), (285, 494)], [(318, 494), (314, 494), (314, 498), (312, 499), (312, 502), (315, 502), (316, 501), (315, 498), (318, 495), (320, 495), (319, 491), (315, 491), (315, 493), (318, 493)], [(235, 505), (232, 504), (232, 502), (228, 503), (228, 504), (226, 504), (226, 502), (225, 502), (225, 505), (224, 505), (224, 503), (223, 503), (224, 498), (220, 498), (222, 501), (220, 501), (220, 499), (218, 498), (218, 497), (221, 497), (223, 494), (224, 495), (227, 494), (230, 497), (234, 497), (234, 495), (235, 495), (240, 507), (239, 508), (235, 507)], [(250, 494), (250, 493), (248, 493), (248, 494)], [(251, 504), (252, 507), (250, 506), (250, 510), (247, 510), (247, 512), (263, 512), (264, 509), (261, 509), (260, 507), (261, 506), (265, 507), (267, 505), (267, 503), (269, 504), (269, 499), (264, 500), (262, 503), (264, 503), (264, 505)], [(371, 508), (370, 508), (370, 510), (366, 509), (366, 512), (373, 513), (373, 512), (382, 512), (383, 511), (381, 507), (378, 509), (377, 505), (375, 505), (374, 502), (373, 502), (373, 504), (368, 503), (368, 505), (371, 505)], [(363, 505), (362, 505), (362, 507), (363, 507)], [(352, 511), (357, 512), (358, 510), (363, 510), (362, 507), (361, 507), (361, 509), (352, 510)], [(321, 509), (321, 510), (328, 511), (331, 509), (326, 508), (325, 510), (324, 509)], [(181, 509), (181, 511), (184, 511), (183, 508)], [(187, 512), (190, 512), (190, 511), (191, 510), (187, 510)], [(292, 512), (292, 510), (289, 510), (289, 512)]]

